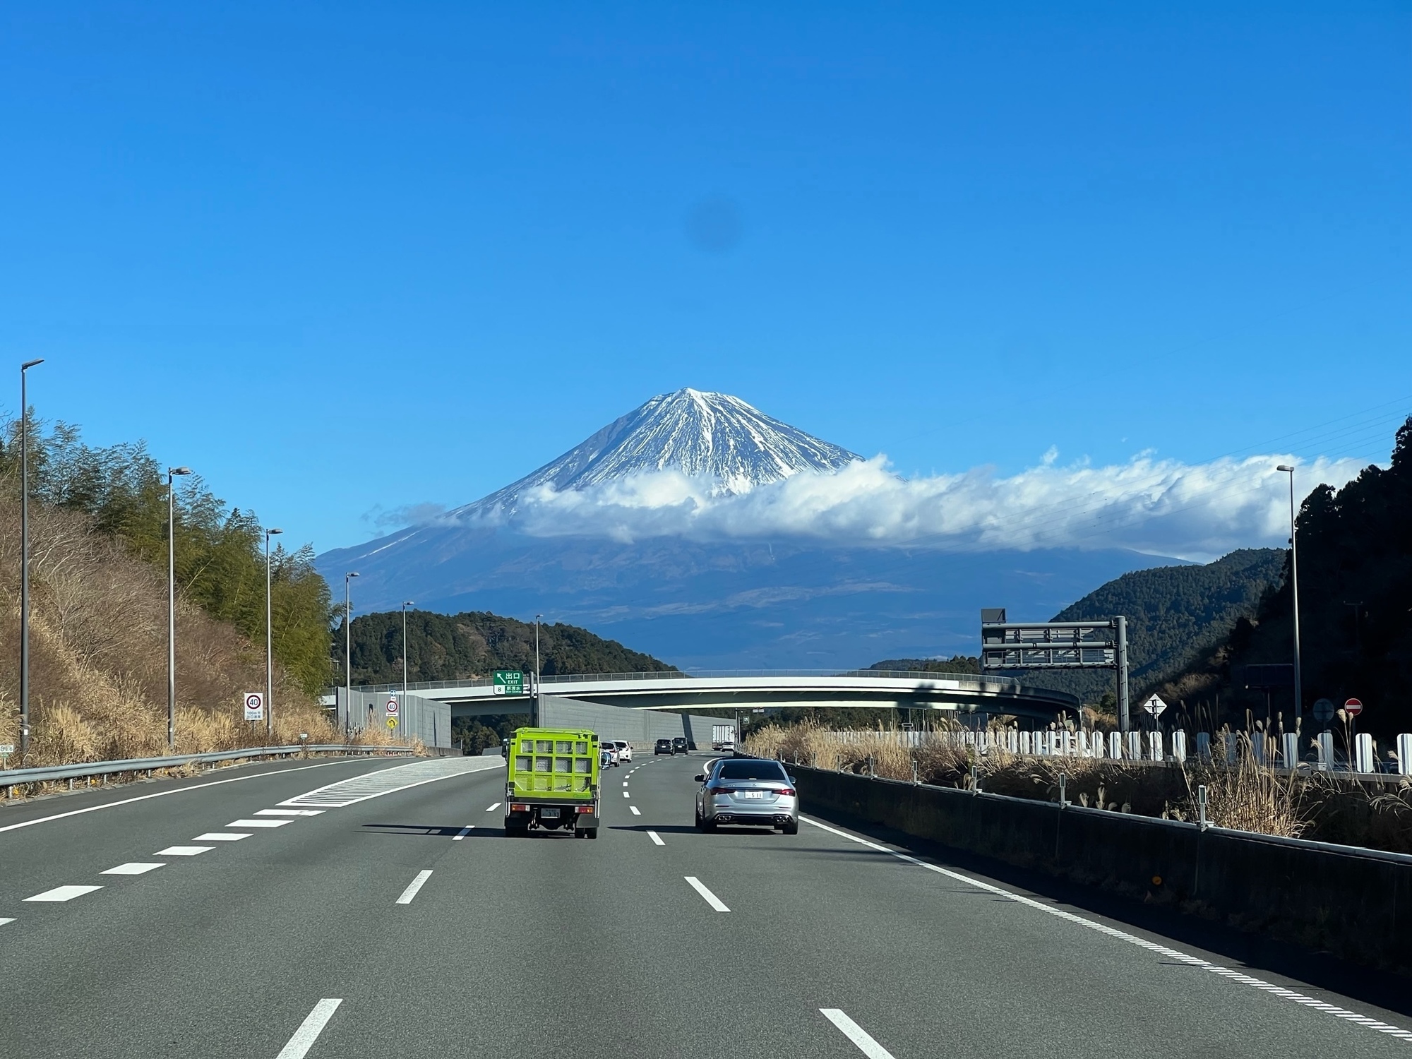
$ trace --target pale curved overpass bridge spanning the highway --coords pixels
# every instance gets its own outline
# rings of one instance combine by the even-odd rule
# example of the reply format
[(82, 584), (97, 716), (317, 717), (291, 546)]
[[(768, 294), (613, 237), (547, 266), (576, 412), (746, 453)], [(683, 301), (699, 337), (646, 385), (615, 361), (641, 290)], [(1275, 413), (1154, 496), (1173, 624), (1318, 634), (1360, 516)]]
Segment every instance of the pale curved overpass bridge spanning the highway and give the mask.
[[(356, 688), (400, 692), (401, 683)], [(496, 695), (489, 679), (408, 683), (424, 699), (449, 703), (452, 717), (528, 710), (530, 696)], [(541, 678), (539, 692), (634, 710), (747, 710), (754, 707), (875, 707), (947, 714), (1011, 714), (1051, 722), (1077, 713), (1065, 692), (1005, 676), (878, 669), (730, 669), (720, 672), (582, 674)]]

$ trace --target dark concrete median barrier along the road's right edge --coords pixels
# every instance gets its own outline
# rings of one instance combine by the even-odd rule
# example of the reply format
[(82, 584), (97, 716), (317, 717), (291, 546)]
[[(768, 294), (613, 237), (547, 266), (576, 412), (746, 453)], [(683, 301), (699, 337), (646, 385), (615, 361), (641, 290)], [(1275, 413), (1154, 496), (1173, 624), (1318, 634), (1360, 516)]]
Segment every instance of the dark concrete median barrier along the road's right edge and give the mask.
[(805, 813), (1412, 969), (1412, 856), (789, 765)]

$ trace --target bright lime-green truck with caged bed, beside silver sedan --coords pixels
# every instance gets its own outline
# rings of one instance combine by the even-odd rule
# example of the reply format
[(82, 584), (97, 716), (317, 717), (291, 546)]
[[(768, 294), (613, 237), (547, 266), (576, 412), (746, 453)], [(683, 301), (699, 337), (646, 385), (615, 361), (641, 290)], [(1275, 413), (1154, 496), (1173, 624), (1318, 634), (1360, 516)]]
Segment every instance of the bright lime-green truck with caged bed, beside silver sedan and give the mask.
[(515, 729), (505, 753), (505, 836), (531, 827), (599, 837), (599, 737), (582, 729)]

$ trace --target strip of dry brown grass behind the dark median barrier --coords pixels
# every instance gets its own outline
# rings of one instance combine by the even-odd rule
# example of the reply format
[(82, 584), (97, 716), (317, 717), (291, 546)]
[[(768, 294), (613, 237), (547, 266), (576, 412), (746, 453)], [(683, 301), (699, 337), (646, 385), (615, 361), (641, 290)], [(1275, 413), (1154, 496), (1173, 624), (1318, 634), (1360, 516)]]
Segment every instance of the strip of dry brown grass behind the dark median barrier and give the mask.
[(1233, 767), (1187, 761), (1173, 768), (1004, 751), (976, 755), (942, 740), (912, 748), (895, 733), (834, 733), (798, 724), (765, 727), (748, 736), (743, 750), (963, 789), (970, 788), (974, 767), (983, 791), (1039, 801), (1059, 799), (1062, 772), (1066, 796), (1079, 805), (1178, 820), (1197, 819), (1196, 791), (1206, 786), (1206, 819), (1219, 827), (1412, 853), (1412, 784), (1358, 782), (1329, 772), (1292, 777), (1258, 764), (1245, 747)]

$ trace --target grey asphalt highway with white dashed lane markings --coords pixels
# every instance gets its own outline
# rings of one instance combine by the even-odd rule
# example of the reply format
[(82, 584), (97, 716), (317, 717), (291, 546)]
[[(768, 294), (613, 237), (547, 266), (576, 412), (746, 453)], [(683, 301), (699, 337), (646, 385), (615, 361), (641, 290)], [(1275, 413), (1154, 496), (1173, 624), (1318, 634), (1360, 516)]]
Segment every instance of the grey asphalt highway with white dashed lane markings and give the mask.
[(504, 772), (465, 771), (477, 758), (289, 762), (0, 810), (0, 1055), (1412, 1046), (1402, 1015), (911, 857), (808, 805), (798, 836), (700, 834), (703, 762), (610, 771), (597, 842), (505, 839)]

